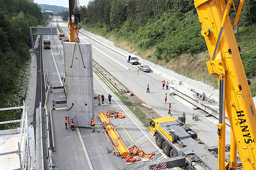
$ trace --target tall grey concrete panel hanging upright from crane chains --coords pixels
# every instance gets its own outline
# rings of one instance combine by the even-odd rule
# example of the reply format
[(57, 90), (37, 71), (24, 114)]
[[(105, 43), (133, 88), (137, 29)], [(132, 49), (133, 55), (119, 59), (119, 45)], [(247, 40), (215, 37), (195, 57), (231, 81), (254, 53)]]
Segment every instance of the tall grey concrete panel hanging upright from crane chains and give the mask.
[[(80, 54), (80, 49), (82, 56)], [(69, 125), (71, 118), (74, 125), (79, 127), (90, 127), (93, 112), (93, 70), (92, 70), (92, 46), (91, 44), (63, 43), (65, 76), (67, 90), (67, 111)], [(74, 52), (75, 48), (75, 52)], [(73, 58), (74, 53), (74, 58)], [(73, 58), (73, 62), (72, 62)], [(86, 68), (84, 68), (84, 65)], [(72, 65), (72, 68), (70, 67)], [(85, 105), (87, 103), (87, 105)]]

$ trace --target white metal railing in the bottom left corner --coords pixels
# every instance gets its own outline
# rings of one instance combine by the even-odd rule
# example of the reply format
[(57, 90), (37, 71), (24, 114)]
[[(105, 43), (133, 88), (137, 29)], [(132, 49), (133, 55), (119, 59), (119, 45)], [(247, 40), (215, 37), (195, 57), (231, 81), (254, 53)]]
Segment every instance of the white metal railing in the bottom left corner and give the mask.
[[(30, 156), (30, 144), (29, 144), (29, 132), (28, 132), (28, 114), (27, 114), (27, 108), (24, 106), (18, 106), (18, 107), (12, 107), (12, 108), (0, 108), (0, 111), (4, 110), (16, 110), (16, 109), (23, 109), (22, 111), (22, 119), (19, 120), (13, 120), (13, 121), (4, 121), (0, 122), (0, 124), (8, 124), (8, 123), (15, 123), (20, 122), (20, 128), (17, 129), (9, 129), (4, 130), (5, 132), (1, 135), (11, 135), (14, 133), (20, 133), (20, 139), (19, 142), (17, 142), (17, 150), (15, 148), (12, 148), (13, 151), (0, 153), (0, 157), (3, 155), (9, 155), (9, 154), (17, 154), (19, 155), (20, 159), (20, 169), (21, 170), (33, 170), (33, 161), (31, 160)], [(1, 159), (1, 158), (0, 158)], [(13, 160), (15, 161), (15, 160)]]

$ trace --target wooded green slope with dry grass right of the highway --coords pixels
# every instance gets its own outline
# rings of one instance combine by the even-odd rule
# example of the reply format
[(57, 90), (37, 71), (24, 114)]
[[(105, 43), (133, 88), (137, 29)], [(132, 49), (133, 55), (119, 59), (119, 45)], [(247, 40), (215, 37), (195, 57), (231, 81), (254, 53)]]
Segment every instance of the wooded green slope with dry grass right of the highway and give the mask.
[[(234, 4), (238, 2), (234, 0)], [(206, 60), (210, 57), (193, 1), (92, 0), (87, 7), (80, 6), (80, 10), (86, 10), (82, 12), (86, 30), (128, 52), (218, 88), (215, 76), (208, 74)], [(236, 12), (231, 8), (230, 13), (233, 21)], [(245, 73), (252, 83), (252, 95), (256, 96), (256, 40), (252, 23), (256, 30), (256, 0), (244, 3), (234, 32)]]

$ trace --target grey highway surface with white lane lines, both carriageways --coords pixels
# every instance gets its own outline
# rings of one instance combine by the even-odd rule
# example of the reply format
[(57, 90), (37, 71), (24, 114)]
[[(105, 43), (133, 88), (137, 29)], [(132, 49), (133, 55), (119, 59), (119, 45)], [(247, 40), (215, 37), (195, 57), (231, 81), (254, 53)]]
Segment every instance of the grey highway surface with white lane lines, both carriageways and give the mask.
[[(54, 17), (54, 20), (57, 18)], [(60, 19), (60, 18), (58, 18)], [(59, 26), (68, 34), (67, 24), (58, 23)], [(56, 23), (51, 23), (56, 26)], [(81, 43), (91, 43), (93, 46), (93, 59), (104, 67), (109, 73), (116, 77), (121, 83), (128, 87), (132, 93), (141, 98), (145, 103), (152, 106), (160, 116), (169, 116), (167, 114), (168, 104), (164, 102), (164, 94), (169, 94), (169, 90), (162, 90), (163, 77), (154, 72), (144, 73), (139, 71), (137, 75), (137, 65), (131, 65), (126, 62), (126, 56), (121, 55), (119, 52), (114, 51), (102, 43), (98, 43), (93, 39), (79, 34)], [(43, 72), (48, 71), (49, 82), (52, 86), (62, 86), (61, 77), (65, 74), (64, 62), (59, 55), (60, 49), (63, 56), (63, 45), (59, 41), (57, 35), (43, 36), (43, 39), (50, 39), (52, 42), (51, 49), (43, 49), (42, 61)], [(41, 41), (42, 41), (41, 40)], [(42, 44), (42, 42), (41, 42)], [(120, 65), (121, 63), (121, 65)], [(129, 68), (129, 70), (127, 69)], [(56, 108), (60, 110), (52, 110), (53, 127), (55, 136), (56, 152), (52, 154), (54, 163), (57, 163), (59, 169), (94, 169), (100, 170), (102, 168), (109, 170), (133, 169), (145, 170), (148, 169), (148, 164), (159, 160), (166, 159), (167, 156), (155, 144), (155, 139), (152, 133), (148, 131), (137, 117), (118, 99), (118, 97), (102, 82), (102, 80), (93, 74), (93, 84), (95, 95), (104, 94), (105, 103), (107, 95), (110, 93), (112, 97), (112, 105), (95, 106), (95, 132), (91, 133), (90, 128), (78, 128), (76, 131), (71, 131), (71, 127), (65, 129), (64, 116), (67, 115), (66, 104), (57, 105)], [(172, 80), (165, 80), (170, 83)], [(150, 84), (150, 93), (146, 93), (147, 83)], [(54, 93), (49, 94), (48, 109), (51, 107), (51, 101), (64, 100), (65, 95), (63, 90), (54, 90)], [(97, 104), (98, 101), (94, 101)], [(167, 103), (172, 105), (172, 114), (174, 118), (182, 115), (182, 112), (187, 114), (187, 125), (198, 133), (198, 138), (205, 142), (208, 146), (216, 146), (217, 143), (217, 127), (218, 120), (213, 117), (205, 117), (206, 113), (202, 110), (193, 110), (193, 105), (184, 101), (178, 96), (169, 97)], [(99, 112), (106, 113), (108, 110), (115, 110), (123, 113), (126, 118), (124, 119), (111, 119), (117, 132), (120, 134), (121, 139), (126, 144), (127, 148), (132, 145), (139, 146), (146, 153), (154, 152), (153, 159), (146, 160), (139, 163), (126, 165), (121, 157), (112, 155), (113, 148), (102, 133), (102, 123), (98, 116)], [(195, 112), (199, 115), (199, 121), (192, 120), (192, 114)], [(74, 120), (76, 121), (76, 119)], [(230, 142), (230, 127), (226, 127), (226, 143)], [(216, 165), (217, 166), (217, 165)]]

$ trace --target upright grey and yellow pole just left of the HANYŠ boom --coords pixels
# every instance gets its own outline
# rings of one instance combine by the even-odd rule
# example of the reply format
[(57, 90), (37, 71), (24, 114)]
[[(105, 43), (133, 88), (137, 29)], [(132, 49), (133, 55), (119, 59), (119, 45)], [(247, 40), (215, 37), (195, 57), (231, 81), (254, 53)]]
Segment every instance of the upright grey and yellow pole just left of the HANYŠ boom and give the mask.
[(218, 170), (225, 170), (225, 79), (219, 79)]

